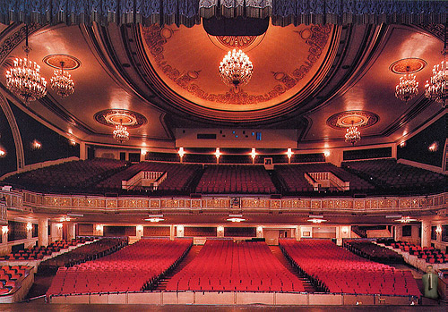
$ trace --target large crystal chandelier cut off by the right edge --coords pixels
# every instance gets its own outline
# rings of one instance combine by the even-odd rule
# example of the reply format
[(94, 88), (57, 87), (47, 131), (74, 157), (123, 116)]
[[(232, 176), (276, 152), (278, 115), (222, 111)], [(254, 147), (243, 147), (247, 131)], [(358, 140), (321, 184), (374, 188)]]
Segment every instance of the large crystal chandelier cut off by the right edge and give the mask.
[(444, 61), (442, 63), (434, 65), (433, 75), (431, 79), (426, 80), (425, 84), (425, 97), (432, 99), (435, 102), (446, 106), (446, 100), (448, 99), (448, 64), (446, 63), (446, 55), (448, 49), (446, 48), (447, 41), (447, 27), (444, 27)]

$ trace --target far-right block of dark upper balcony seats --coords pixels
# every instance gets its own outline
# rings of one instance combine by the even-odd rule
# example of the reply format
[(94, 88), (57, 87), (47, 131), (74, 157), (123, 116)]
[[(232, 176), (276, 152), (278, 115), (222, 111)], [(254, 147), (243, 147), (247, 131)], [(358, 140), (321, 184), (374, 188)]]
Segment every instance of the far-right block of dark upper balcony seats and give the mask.
[(395, 159), (344, 162), (342, 167), (387, 190), (421, 192), (433, 189), (443, 190), (448, 185), (448, 178), (444, 174), (407, 164), (398, 164)]

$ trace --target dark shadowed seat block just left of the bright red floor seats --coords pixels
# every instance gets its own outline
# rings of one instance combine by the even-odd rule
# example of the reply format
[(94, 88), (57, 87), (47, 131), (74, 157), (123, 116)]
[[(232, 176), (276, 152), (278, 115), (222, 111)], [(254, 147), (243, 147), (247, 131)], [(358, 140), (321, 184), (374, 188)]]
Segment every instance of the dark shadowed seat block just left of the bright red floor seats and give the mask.
[(85, 261), (104, 257), (127, 245), (125, 238), (104, 238), (96, 240), (56, 257), (49, 258), (39, 264), (39, 273), (56, 274), (59, 267), (74, 266)]

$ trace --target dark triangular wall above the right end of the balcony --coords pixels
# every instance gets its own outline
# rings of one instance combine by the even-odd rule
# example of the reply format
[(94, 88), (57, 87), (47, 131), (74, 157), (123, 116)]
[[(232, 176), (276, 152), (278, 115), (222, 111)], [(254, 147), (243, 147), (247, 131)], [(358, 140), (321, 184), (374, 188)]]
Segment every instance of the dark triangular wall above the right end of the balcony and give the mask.
[[(448, 114), (445, 114), (424, 131), (408, 139), (404, 147), (401, 148), (399, 146), (397, 148), (397, 159), (404, 158), (422, 164), (432, 164), (437, 167), (442, 167), (444, 144), (448, 135), (447, 123)], [(438, 149), (435, 152), (428, 150), (428, 147), (433, 142), (437, 142), (438, 144)]]

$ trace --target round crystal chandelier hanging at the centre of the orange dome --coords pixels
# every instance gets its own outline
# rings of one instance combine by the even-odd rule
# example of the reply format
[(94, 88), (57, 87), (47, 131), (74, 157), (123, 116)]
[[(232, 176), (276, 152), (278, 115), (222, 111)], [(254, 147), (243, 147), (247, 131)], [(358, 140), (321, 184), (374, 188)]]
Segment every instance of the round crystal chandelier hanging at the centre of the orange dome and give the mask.
[(224, 56), (220, 63), (221, 80), (229, 87), (235, 87), (235, 89), (249, 82), (253, 70), (254, 66), (249, 61), (249, 56), (241, 50), (228, 51), (228, 54)]

